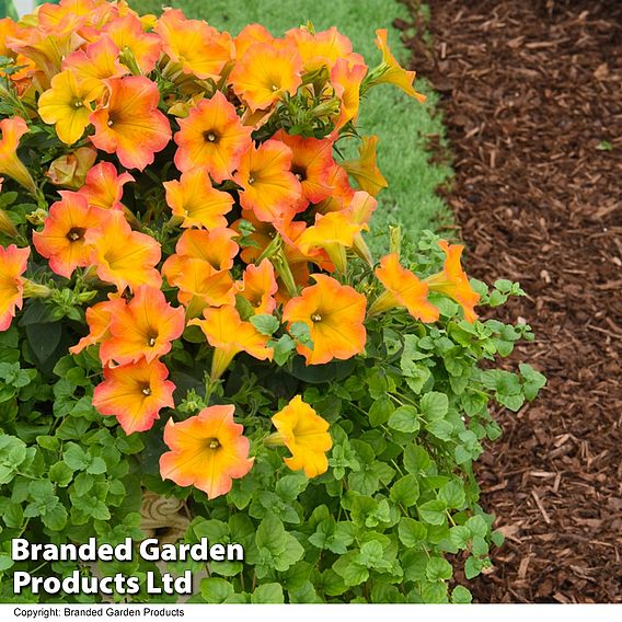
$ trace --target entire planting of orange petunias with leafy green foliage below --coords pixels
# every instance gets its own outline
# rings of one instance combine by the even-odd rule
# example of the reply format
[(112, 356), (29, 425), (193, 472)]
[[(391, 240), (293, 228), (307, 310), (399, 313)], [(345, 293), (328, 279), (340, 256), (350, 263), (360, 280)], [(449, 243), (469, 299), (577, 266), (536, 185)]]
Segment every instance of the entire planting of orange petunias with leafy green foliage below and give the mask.
[(491, 405), (544, 380), (493, 362), (527, 324), (480, 319), (518, 285), (429, 232), (370, 252), (359, 106), (425, 101), (376, 43), (368, 67), (336, 27), (232, 36), (124, 0), (0, 20), (0, 574), (160, 572), (9, 555), (140, 540), (157, 494), (185, 542), (244, 548), (170, 564), (194, 601), (470, 600), (454, 567), (500, 543), (472, 470)]

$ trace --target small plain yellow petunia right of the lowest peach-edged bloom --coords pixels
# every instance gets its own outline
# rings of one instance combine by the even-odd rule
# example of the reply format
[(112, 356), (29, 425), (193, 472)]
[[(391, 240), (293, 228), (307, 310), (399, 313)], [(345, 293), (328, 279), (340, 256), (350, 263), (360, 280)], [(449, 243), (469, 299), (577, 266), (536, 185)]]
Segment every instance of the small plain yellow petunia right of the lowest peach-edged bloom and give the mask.
[(304, 470), (308, 477), (327, 471), (326, 451), (333, 447), (329, 422), (304, 403), (300, 395), (296, 395), (272, 421), (278, 430), (277, 436), (291, 452), (291, 458), (285, 458), (284, 462), (292, 471)]

